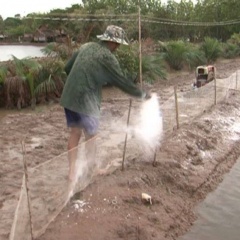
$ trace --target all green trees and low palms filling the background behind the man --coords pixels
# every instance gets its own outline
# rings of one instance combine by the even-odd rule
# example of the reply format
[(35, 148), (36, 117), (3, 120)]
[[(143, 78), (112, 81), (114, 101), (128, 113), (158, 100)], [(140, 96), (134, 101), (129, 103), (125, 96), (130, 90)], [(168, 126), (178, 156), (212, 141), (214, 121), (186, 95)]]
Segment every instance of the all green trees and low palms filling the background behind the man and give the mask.
[[(65, 33), (61, 43), (48, 42), (44, 59), (17, 59), (0, 63), (0, 106), (32, 106), (58, 98), (66, 80), (64, 64), (87, 41), (96, 41), (106, 26), (116, 24), (127, 32), (130, 45), (116, 56), (130, 81), (139, 81), (138, 0), (83, 0), (47, 14), (29, 13), (2, 19), (0, 35), (8, 42), (24, 41), (41, 26)], [(192, 70), (218, 58), (240, 54), (238, 0), (141, 0), (141, 51), (143, 80), (167, 79), (169, 70)]]

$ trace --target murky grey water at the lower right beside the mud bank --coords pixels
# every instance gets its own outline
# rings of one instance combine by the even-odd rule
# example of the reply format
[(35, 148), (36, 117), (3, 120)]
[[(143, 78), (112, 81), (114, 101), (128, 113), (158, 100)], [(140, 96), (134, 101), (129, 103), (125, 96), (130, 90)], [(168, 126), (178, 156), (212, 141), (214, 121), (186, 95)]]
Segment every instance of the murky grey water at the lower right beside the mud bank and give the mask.
[(199, 218), (179, 240), (240, 239), (240, 158), (198, 208)]

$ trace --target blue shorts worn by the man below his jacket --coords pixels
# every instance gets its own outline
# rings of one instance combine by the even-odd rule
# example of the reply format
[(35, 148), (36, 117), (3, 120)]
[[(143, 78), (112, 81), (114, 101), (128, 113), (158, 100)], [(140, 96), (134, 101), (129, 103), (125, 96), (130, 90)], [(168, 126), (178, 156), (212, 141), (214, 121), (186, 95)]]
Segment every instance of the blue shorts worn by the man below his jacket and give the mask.
[(83, 128), (88, 135), (96, 135), (99, 119), (64, 108), (68, 127)]

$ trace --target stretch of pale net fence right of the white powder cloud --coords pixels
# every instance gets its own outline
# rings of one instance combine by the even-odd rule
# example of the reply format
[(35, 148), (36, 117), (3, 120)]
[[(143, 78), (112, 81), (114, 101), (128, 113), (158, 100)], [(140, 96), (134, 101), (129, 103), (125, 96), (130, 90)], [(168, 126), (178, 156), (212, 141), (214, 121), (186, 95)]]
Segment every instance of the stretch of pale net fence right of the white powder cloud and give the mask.
[[(178, 121), (184, 124), (207, 111), (215, 103), (228, 97), (229, 90), (239, 90), (238, 72), (228, 78), (216, 79), (201, 88), (193, 88), (186, 92), (177, 92)], [(216, 84), (216, 85), (215, 85)], [(176, 104), (173, 96), (161, 106), (163, 112), (163, 129), (171, 132), (177, 126)]]

